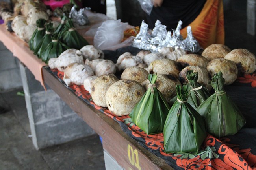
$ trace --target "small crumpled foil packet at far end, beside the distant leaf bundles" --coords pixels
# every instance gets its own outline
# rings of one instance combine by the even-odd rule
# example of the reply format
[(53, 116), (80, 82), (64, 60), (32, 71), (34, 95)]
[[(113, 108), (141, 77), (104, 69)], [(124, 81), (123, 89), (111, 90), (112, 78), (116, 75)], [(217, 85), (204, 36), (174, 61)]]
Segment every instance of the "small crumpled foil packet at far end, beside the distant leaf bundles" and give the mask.
[(75, 6), (72, 7), (70, 13), (69, 13), (69, 18), (73, 19), (74, 23), (77, 23), (80, 26), (84, 26), (86, 24), (89, 24), (90, 21), (86, 15), (86, 9), (81, 8), (79, 11), (76, 11)]

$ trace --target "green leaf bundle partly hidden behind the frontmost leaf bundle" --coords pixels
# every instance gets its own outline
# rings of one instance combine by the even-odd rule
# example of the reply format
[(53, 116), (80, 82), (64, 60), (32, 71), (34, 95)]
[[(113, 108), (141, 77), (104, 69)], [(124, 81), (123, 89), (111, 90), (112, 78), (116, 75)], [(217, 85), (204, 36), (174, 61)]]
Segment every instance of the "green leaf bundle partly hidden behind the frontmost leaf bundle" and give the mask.
[[(186, 74), (187, 80), (189, 81), (187, 85), (187, 91), (198, 88), (202, 86), (202, 89), (191, 91), (189, 97), (187, 98), (187, 103), (189, 103), (195, 110), (197, 110), (198, 106), (204, 102), (208, 97), (210, 97), (210, 93), (203, 85), (197, 82), (198, 72), (193, 73), (193, 70), (187, 71)], [(171, 99), (170, 103), (173, 104), (177, 100), (177, 96)]]

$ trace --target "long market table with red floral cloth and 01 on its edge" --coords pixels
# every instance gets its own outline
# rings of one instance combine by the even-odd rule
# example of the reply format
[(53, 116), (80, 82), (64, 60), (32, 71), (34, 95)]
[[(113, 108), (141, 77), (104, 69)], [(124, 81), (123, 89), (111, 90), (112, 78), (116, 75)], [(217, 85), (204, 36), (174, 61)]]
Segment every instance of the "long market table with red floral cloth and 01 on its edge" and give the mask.
[(76, 86), (65, 86), (58, 70), (43, 66), (27, 44), (7, 32), (3, 25), (0, 26), (0, 40), (21, 62), (28, 64), (37, 80), (43, 80), (102, 137), (104, 150), (125, 170), (256, 169), (255, 73), (239, 77), (238, 82), (226, 87), (240, 109), (248, 113), (247, 125), (250, 127), (220, 140), (208, 135), (203, 144), (204, 150), (197, 155), (165, 154), (162, 133), (147, 136), (136, 126), (130, 126), (131, 123), (127, 126), (127, 122), (122, 122), (123, 118), (118, 122), (119, 118), (106, 108), (93, 104), (88, 92)]

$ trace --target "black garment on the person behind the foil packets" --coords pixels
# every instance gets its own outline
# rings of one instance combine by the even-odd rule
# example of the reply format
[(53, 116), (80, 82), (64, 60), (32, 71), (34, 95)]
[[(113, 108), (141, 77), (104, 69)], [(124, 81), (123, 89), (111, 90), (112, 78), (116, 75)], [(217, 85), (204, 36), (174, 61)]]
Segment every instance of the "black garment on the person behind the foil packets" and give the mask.
[(200, 14), (206, 0), (163, 0), (161, 7), (153, 7), (150, 16), (147, 15), (150, 29), (155, 27), (156, 20), (167, 26), (167, 31), (176, 29), (179, 20), (182, 28), (188, 26)]

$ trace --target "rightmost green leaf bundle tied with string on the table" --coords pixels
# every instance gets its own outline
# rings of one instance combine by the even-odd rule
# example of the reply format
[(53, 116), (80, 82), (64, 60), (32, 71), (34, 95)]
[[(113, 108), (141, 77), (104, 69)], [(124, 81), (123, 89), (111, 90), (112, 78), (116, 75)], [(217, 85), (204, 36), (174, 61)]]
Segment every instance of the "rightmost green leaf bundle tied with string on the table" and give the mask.
[(245, 118), (226, 94), (224, 82), (221, 71), (213, 75), (209, 83), (215, 93), (197, 108), (204, 117), (207, 132), (218, 138), (234, 135), (245, 125)]

